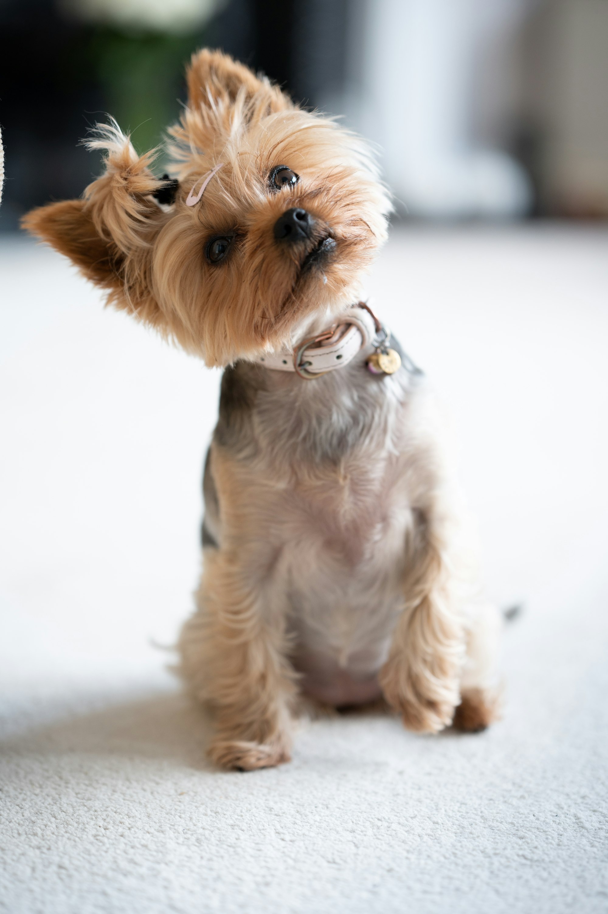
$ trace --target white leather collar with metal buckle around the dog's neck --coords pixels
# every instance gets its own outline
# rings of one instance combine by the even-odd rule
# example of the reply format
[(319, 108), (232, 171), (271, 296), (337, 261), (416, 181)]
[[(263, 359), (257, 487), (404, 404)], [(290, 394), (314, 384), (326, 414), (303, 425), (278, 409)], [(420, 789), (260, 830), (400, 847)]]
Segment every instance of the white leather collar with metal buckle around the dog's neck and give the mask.
[[(292, 371), (310, 379), (336, 371), (352, 362), (364, 346), (376, 335), (371, 314), (355, 305), (336, 318), (336, 323), (324, 333), (302, 341), (292, 350), (264, 353), (257, 361), (272, 371)], [(325, 345), (324, 345), (325, 344)]]

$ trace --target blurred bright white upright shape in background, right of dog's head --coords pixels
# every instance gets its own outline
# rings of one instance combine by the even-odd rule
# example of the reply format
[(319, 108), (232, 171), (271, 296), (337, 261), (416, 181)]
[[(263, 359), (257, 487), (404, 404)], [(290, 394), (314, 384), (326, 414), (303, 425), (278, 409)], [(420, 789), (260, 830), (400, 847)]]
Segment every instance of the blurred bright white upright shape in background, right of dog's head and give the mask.
[[(349, 120), (382, 147), (385, 175), (412, 215), (501, 218), (528, 210), (527, 176), (492, 134), (508, 116), (515, 61), (505, 48), (529, 3), (359, 5)], [(488, 53), (492, 48), (501, 53)]]

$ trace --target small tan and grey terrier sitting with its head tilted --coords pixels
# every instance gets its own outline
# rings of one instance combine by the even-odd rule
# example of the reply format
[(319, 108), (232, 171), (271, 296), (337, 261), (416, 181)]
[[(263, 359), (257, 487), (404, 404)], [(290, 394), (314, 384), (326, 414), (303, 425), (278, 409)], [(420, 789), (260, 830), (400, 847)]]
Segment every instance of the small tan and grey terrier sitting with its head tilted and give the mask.
[(90, 143), (105, 174), (25, 225), (115, 307), (226, 367), (179, 643), (215, 711), (210, 757), (289, 760), (298, 693), (384, 696), (421, 732), (485, 728), (497, 614), (467, 583), (424, 377), (357, 304), (390, 209), (368, 147), (218, 52), (187, 82), (176, 178), (112, 123)]

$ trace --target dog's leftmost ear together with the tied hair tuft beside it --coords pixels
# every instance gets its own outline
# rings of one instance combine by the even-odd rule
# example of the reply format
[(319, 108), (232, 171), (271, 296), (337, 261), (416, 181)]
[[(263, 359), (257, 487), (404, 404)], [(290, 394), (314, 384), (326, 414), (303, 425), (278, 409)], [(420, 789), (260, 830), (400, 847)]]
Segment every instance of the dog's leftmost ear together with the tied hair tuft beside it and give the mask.
[(166, 217), (151, 199), (165, 186), (148, 168), (155, 154), (138, 156), (113, 121), (98, 126), (87, 145), (105, 152), (105, 173), (82, 199), (34, 209), (22, 225), (69, 257), (91, 282), (110, 290), (117, 307), (156, 323), (147, 277), (151, 243)]

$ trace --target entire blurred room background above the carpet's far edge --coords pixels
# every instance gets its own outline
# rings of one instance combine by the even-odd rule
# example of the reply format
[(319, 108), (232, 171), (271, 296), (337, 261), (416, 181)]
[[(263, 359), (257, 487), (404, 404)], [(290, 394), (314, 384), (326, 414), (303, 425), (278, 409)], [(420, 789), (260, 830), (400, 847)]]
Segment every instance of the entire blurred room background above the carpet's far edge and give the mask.
[(375, 140), (401, 217), (608, 217), (606, 0), (0, 0), (0, 230), (105, 112), (158, 143), (203, 45)]

